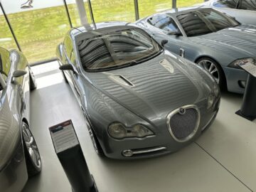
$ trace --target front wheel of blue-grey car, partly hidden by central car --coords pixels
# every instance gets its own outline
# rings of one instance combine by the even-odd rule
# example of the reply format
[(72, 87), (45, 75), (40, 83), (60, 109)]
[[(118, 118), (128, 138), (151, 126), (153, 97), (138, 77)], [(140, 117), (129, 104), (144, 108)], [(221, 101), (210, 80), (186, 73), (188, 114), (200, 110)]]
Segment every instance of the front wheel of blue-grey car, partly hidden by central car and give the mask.
[(223, 69), (220, 67), (218, 62), (211, 58), (200, 58), (196, 61), (196, 63), (213, 76), (215, 81), (218, 82), (220, 90), (227, 90), (225, 73), (223, 72)]

